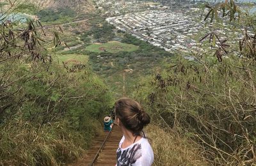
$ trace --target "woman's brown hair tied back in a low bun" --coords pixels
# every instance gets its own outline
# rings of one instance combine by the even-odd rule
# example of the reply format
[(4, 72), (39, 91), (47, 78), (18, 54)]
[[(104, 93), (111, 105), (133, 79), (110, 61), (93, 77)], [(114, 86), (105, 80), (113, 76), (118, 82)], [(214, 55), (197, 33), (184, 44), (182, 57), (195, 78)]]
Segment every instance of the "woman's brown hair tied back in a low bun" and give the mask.
[(120, 98), (115, 103), (116, 117), (133, 135), (140, 135), (144, 126), (150, 123), (150, 116), (140, 104), (130, 98)]

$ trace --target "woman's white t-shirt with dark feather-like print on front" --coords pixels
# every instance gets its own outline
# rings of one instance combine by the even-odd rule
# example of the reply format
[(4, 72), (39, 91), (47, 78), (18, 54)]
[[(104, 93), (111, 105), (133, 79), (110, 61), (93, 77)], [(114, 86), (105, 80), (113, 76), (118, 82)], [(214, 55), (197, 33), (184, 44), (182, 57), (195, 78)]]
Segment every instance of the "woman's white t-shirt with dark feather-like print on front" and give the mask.
[(126, 148), (121, 145), (124, 142), (124, 136), (120, 140), (116, 151), (117, 166), (150, 166), (154, 162), (154, 153), (148, 140), (141, 138), (134, 144)]

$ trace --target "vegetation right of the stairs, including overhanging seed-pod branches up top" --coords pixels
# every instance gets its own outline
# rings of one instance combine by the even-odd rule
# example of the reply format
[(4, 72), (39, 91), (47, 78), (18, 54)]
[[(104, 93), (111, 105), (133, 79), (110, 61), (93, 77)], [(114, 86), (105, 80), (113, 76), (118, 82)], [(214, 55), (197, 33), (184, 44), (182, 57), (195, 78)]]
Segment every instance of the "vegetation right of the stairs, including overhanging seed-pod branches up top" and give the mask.
[(219, 19), (215, 12), (225, 12), (224, 19), (246, 26), (237, 49), (228, 50), (225, 41), (209, 32), (201, 40), (207, 40), (205, 52), (196, 54), (195, 61), (177, 59), (163, 72), (144, 78), (133, 96), (157, 124), (198, 144), (210, 164), (255, 165), (255, 14), (252, 19), (234, 1), (207, 8), (211, 10), (205, 20), (210, 17), (212, 22)]

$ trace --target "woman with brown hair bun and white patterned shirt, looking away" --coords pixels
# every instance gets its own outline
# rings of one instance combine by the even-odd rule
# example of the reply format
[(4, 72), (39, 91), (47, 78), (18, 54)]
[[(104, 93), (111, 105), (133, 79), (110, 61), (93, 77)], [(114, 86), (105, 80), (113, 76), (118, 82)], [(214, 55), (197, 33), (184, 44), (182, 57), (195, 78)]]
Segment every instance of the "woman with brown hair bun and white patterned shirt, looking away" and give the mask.
[(116, 165), (152, 165), (154, 153), (143, 132), (143, 128), (150, 123), (150, 116), (140, 104), (130, 98), (117, 100), (115, 123), (124, 134), (116, 151)]

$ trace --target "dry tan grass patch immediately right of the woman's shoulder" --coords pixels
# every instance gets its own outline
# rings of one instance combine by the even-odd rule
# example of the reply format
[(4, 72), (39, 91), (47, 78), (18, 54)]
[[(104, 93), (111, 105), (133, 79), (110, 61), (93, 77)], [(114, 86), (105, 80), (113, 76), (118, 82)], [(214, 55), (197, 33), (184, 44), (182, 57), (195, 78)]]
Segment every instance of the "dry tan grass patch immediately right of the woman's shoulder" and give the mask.
[(209, 165), (193, 142), (175, 132), (166, 132), (155, 125), (149, 125), (146, 132), (154, 151), (154, 166)]

